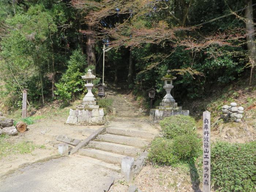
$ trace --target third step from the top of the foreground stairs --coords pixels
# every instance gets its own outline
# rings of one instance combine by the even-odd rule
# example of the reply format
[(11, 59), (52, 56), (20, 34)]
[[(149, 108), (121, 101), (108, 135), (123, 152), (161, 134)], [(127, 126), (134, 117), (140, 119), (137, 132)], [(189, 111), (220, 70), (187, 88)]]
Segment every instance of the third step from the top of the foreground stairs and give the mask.
[(136, 155), (139, 155), (142, 152), (141, 149), (138, 149), (132, 146), (102, 142), (102, 141), (90, 141), (88, 144), (88, 147), (99, 149), (102, 151), (109, 151), (112, 153), (133, 156), (133, 157), (135, 157)]

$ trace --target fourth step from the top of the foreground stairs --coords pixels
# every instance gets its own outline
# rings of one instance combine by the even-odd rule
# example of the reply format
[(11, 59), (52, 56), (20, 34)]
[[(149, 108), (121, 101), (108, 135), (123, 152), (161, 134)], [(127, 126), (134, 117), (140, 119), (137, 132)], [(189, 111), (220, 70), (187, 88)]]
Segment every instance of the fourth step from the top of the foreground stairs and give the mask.
[(95, 159), (99, 159), (107, 163), (113, 163), (113, 164), (119, 164), (119, 165), (121, 165), (122, 159), (126, 157), (126, 155), (120, 155), (120, 154), (97, 150), (93, 148), (79, 149), (79, 154), (89, 156)]

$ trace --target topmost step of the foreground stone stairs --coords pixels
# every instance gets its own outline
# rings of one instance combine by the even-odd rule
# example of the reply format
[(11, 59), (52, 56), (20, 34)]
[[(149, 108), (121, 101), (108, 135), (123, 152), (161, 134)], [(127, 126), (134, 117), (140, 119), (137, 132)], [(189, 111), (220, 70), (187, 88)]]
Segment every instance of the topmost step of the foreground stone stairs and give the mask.
[(146, 132), (146, 131), (137, 131), (131, 129), (116, 129), (116, 128), (106, 128), (106, 132), (113, 135), (123, 135), (131, 137), (139, 137), (143, 139), (153, 140), (157, 134)]

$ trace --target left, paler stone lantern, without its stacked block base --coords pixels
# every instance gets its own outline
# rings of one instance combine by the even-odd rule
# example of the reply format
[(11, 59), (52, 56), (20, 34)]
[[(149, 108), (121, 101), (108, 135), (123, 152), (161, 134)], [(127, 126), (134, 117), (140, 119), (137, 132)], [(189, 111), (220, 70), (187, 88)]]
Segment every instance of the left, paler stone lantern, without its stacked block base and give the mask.
[(82, 79), (86, 80), (86, 84), (84, 86), (88, 90), (88, 93), (83, 98), (83, 102), (95, 101), (95, 97), (93, 93), (91, 93), (91, 90), (93, 89), (93, 80), (96, 79), (96, 76), (93, 75), (91, 73), (91, 69), (89, 69), (87, 74), (82, 76)]

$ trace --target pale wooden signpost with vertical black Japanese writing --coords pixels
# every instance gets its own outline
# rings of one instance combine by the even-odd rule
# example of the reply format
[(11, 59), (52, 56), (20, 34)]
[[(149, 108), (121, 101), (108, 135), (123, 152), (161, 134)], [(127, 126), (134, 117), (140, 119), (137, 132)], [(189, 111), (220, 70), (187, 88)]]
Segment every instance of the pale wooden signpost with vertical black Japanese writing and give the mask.
[(211, 113), (203, 112), (203, 192), (211, 191)]

